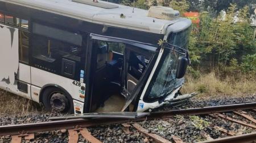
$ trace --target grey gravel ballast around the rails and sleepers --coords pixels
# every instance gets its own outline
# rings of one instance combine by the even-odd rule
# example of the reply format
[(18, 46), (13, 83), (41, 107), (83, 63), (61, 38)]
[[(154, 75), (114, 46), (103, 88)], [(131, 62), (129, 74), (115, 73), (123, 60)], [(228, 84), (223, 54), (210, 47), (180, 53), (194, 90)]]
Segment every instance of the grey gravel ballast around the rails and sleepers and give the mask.
[[(246, 103), (253, 102), (255, 96), (243, 97), (243, 98), (221, 98), (221, 99), (210, 99), (210, 100), (199, 100), (191, 99), (185, 102), (181, 106), (163, 106), (157, 109), (171, 110), (171, 109), (188, 109), (195, 107), (204, 106), (217, 106), (217, 105), (229, 105), (234, 103)], [(256, 114), (253, 111), (246, 110), (248, 114), (256, 118)], [(249, 120), (242, 118), (233, 113), (225, 113), (225, 115), (243, 120), (244, 122), (251, 123)], [(63, 114), (28, 114), (28, 115), (1, 115), (0, 114), (0, 125), (11, 125), (11, 124), (24, 124), (24, 123), (38, 123), (47, 122), (50, 117), (63, 116)], [(172, 136), (181, 138), (184, 142), (197, 142), (209, 140), (210, 138), (227, 137), (225, 133), (214, 129), (214, 125), (218, 127), (228, 129), (229, 131), (236, 132), (237, 135), (244, 133), (255, 132), (256, 130), (250, 127), (245, 127), (241, 124), (233, 123), (228, 120), (221, 118), (213, 118), (212, 116), (175, 116), (171, 119), (157, 119), (150, 121), (139, 122), (143, 128), (146, 128), (150, 133), (155, 133), (167, 140), (172, 141)], [(251, 123), (253, 124), (253, 123)], [(135, 128), (130, 128), (133, 134), (127, 135), (121, 124), (114, 125), (100, 125), (97, 127), (88, 128), (91, 134), (98, 138), (102, 142), (154, 142), (151, 138), (148, 138), (142, 133), (138, 132)], [(10, 142), (10, 136), (0, 137), (1, 142)], [(60, 131), (49, 131), (43, 133), (36, 133), (35, 140), (32, 142), (68, 142), (68, 132), (66, 130)], [(86, 142), (80, 135), (79, 142)]]

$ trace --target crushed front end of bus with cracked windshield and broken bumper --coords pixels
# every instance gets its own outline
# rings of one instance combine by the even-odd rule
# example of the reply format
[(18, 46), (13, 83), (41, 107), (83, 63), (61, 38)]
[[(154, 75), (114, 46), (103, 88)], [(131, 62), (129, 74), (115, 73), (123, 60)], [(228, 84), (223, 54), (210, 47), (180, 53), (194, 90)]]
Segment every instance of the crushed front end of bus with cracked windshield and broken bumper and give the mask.
[(189, 61), (188, 42), (191, 20), (180, 18), (169, 25), (158, 58), (144, 86), (137, 111), (156, 109), (164, 104), (177, 105), (195, 96), (180, 94)]

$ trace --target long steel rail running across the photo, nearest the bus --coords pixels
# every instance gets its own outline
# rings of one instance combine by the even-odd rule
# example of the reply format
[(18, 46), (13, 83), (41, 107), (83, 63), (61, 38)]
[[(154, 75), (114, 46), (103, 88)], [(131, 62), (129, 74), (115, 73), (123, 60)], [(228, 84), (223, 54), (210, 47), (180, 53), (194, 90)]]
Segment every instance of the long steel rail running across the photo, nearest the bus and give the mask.
[(3, 125), (3, 126), (0, 126), (0, 136), (19, 135), (20, 133), (56, 131), (59, 129), (74, 129), (77, 126), (79, 126), (80, 128), (85, 128), (85, 127), (92, 127), (96, 125), (138, 122), (142, 120), (171, 118), (172, 116), (175, 116), (175, 115), (213, 114), (216, 112), (255, 109), (255, 107), (256, 107), (256, 102), (252, 102), (252, 103), (241, 103), (241, 104), (235, 104), (235, 105), (203, 107), (203, 108), (196, 108), (196, 109), (151, 112), (150, 115), (143, 118), (138, 118), (138, 119), (113, 119), (113, 118), (69, 119), (69, 120), (56, 120), (56, 121), (40, 122), (40, 123)]

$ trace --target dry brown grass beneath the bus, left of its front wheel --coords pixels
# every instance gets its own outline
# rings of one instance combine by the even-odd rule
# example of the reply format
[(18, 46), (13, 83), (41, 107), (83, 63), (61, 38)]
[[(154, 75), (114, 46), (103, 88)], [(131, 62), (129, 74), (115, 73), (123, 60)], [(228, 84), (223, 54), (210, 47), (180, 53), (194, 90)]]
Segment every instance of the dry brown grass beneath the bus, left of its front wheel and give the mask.
[(43, 108), (29, 99), (0, 90), (0, 114), (28, 115), (33, 112), (42, 112)]

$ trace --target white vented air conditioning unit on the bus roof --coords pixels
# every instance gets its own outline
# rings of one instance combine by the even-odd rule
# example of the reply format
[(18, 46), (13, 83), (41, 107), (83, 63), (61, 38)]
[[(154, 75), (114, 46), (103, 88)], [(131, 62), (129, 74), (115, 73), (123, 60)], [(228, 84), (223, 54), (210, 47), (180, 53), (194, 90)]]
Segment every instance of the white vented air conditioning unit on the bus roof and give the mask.
[(170, 7), (152, 6), (147, 16), (158, 19), (174, 20), (180, 17), (180, 12)]

